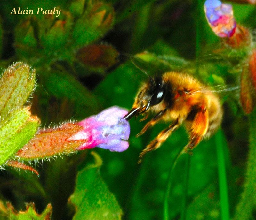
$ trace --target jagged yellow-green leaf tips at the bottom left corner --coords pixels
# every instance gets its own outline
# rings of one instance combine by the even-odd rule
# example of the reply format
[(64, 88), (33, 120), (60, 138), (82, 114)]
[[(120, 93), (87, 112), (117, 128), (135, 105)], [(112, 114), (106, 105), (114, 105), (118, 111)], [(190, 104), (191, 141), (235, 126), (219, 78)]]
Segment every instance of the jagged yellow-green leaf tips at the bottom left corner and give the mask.
[(50, 220), (52, 215), (52, 205), (49, 203), (44, 211), (39, 215), (36, 213), (34, 203), (26, 205), (26, 211), (15, 211), (10, 203), (7, 204), (9, 219), (12, 220)]

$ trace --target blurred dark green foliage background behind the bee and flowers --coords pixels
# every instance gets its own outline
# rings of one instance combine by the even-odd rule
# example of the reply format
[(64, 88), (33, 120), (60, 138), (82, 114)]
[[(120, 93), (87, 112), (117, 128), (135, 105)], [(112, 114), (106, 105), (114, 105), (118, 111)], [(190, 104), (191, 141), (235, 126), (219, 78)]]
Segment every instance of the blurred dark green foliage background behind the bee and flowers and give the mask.
[[(103, 6), (97, 9), (97, 12), (107, 11), (106, 14), (103, 13), (101, 21), (102, 17), (95, 17), (95, 11), (89, 10), (88, 5), (96, 3), (0, 2), (1, 70), (15, 61), (23, 61), (36, 69), (38, 85), (30, 102), (33, 113), (41, 118), (43, 126), (59, 125), (70, 118), (81, 120), (113, 105), (131, 108), (140, 82), (146, 78), (127, 58), (120, 56), (116, 63), (116, 51), (121, 54), (149, 51), (148, 57), (144, 58), (149, 63), (153, 60), (152, 64), (146, 67), (145, 62), (141, 64), (149, 72), (154, 73), (155, 69), (164, 71), (166, 68), (177, 70), (189, 63), (183, 69), (196, 74), (205, 83), (222, 83), (228, 87), (239, 84), (240, 72), (237, 68), (234, 69), (235, 64), (223, 63), (211, 57), (209, 51), (218, 45), (220, 39), (208, 27), (203, 2), (104, 1)], [(237, 23), (255, 29), (255, 6), (231, 3)], [(37, 27), (41, 31), (38, 32), (41, 35), (36, 36), (35, 32), (31, 34), (29, 25), (24, 26), (24, 21), (29, 16), (10, 15), (14, 7), (59, 7), (62, 15), (57, 19), (36, 15), (38, 23), (31, 23), (33, 30)], [(94, 17), (86, 24), (83, 19), (88, 16), (88, 11)], [(108, 15), (113, 19), (105, 22)], [(66, 21), (61, 33), (55, 23), (58, 20)], [(97, 28), (93, 29), (94, 26)], [(54, 27), (57, 29), (54, 30)], [(37, 45), (38, 39), (41, 45)], [(88, 64), (86, 57), (84, 61), (79, 60), (78, 55), (84, 56), (85, 53), (78, 52), (79, 49), (92, 44), (109, 46), (106, 52), (107, 64)], [(108, 63), (109, 60), (112, 60), (111, 64)], [(198, 61), (197, 64), (195, 60)], [(217, 156), (218, 145), (223, 149), (227, 174), (226, 208), (228, 213), (228, 209), (230, 210), (227, 216), (235, 215), (243, 192), (250, 126), (251, 137), (255, 134), (255, 111), (251, 116), (244, 115), (238, 95), (239, 91), (222, 95), (225, 112), (222, 130), (218, 135), (200, 143), (190, 159), (183, 155), (178, 160), (172, 173), (170, 219), (223, 217), (220, 208), (223, 208), (223, 204), (220, 203), (221, 180), (218, 172), (221, 171), (218, 166), (221, 162)], [(121, 206), (123, 219), (162, 219), (164, 193), (171, 164), (180, 148), (187, 143), (187, 134), (181, 127), (160, 149), (149, 153), (143, 163), (138, 165), (140, 151), (167, 125), (159, 123), (142, 137), (135, 138), (145, 122), (139, 123), (133, 119), (130, 124), (128, 150), (116, 153), (95, 149), (103, 161), (100, 176)], [(40, 178), (29, 172), (7, 167), (1, 171), (1, 200), (11, 201), (17, 210), (24, 209), (25, 202), (33, 201), (38, 212), (42, 212), (50, 202), (53, 207), (52, 219), (71, 219), (75, 209), (68, 198), (74, 192), (77, 171), (93, 161), (89, 152), (90, 150), (86, 150), (76, 155), (55, 158), (51, 162), (36, 163)], [(248, 177), (253, 178), (250, 175), (253, 176), (254, 173)], [(90, 178), (93, 182), (95, 176), (88, 175), (84, 187), (90, 185)], [(254, 209), (249, 210), (247, 215), (248, 218), (255, 219), (255, 192), (252, 194)], [(86, 208), (93, 203), (93, 193), (90, 195)]]

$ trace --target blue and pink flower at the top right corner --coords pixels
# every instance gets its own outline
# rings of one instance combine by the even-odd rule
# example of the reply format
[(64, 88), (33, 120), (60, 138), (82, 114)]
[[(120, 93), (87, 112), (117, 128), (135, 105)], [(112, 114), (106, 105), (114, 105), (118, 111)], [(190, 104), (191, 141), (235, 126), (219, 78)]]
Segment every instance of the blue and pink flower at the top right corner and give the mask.
[(236, 31), (236, 20), (232, 5), (219, 0), (206, 0), (204, 11), (212, 31), (219, 37), (232, 37)]

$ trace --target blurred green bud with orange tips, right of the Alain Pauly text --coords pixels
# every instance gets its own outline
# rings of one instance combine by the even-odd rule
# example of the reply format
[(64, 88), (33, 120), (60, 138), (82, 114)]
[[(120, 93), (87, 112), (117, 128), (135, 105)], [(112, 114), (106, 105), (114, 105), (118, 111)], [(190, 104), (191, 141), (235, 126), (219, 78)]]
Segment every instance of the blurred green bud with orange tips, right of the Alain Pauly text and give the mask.
[(87, 45), (107, 33), (114, 21), (113, 8), (105, 3), (89, 1), (73, 31), (76, 45)]

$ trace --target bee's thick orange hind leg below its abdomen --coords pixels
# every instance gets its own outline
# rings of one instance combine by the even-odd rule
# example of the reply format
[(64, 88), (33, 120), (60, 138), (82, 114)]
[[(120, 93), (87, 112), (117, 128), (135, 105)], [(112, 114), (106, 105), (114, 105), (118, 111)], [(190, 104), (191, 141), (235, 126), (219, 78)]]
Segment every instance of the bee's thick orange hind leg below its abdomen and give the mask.
[(209, 126), (208, 111), (204, 106), (198, 108), (192, 123), (188, 127), (190, 140), (184, 147), (183, 153), (190, 153), (199, 144), (204, 135), (207, 133)]

